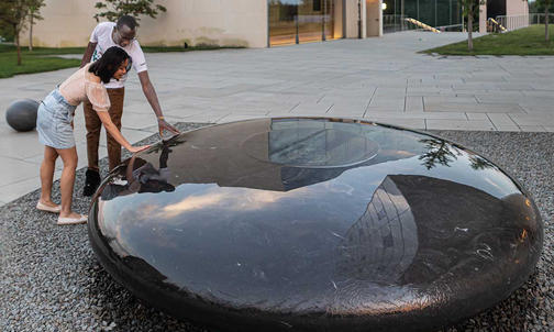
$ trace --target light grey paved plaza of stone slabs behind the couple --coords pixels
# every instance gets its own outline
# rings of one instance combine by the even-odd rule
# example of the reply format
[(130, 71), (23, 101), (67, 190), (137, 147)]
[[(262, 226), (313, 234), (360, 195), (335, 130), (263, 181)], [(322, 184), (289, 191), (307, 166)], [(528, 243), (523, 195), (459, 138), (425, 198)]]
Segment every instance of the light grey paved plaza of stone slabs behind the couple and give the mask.
[[(441, 57), (418, 51), (463, 33), (403, 32), (266, 49), (146, 54), (170, 122), (222, 123), (256, 117), (364, 118), (422, 130), (554, 132), (552, 57)], [(0, 117), (19, 98), (44, 98), (75, 68), (0, 80)], [(125, 90), (123, 134), (156, 131), (136, 75)], [(86, 165), (82, 108), (75, 136)], [(102, 137), (101, 156), (106, 155)], [(36, 132), (0, 122), (0, 206), (40, 187)], [(59, 177), (62, 162), (57, 164)]]

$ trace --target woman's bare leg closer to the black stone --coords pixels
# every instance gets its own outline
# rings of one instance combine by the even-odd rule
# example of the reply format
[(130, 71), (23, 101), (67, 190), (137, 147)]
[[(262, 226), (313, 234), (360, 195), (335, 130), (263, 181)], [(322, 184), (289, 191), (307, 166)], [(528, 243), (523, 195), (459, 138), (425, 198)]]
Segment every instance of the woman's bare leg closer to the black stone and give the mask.
[(73, 188), (75, 185), (75, 169), (77, 168), (77, 150), (71, 148), (59, 148), (56, 152), (64, 161), (64, 170), (62, 171), (62, 178), (59, 179), (59, 188), (62, 191), (62, 211), (59, 211), (60, 218), (79, 218), (79, 213), (71, 211), (73, 202)]

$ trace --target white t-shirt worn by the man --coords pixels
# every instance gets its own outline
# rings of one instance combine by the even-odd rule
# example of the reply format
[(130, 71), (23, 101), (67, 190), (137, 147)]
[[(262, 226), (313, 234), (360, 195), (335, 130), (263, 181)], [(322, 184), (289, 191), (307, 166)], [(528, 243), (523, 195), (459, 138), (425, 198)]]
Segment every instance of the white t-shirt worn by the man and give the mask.
[[(95, 27), (92, 34), (90, 35), (90, 42), (98, 44), (90, 60), (96, 62), (108, 48), (118, 46), (125, 49), (129, 56), (131, 56), (131, 59), (133, 60), (133, 68), (136, 70), (136, 73), (147, 70), (148, 68), (146, 67), (146, 59), (144, 58), (144, 53), (142, 52), (138, 41), (134, 40), (125, 47), (121, 47), (112, 40), (113, 27), (115, 27), (114, 22), (102, 22)], [(123, 88), (125, 86), (126, 77), (128, 74), (120, 78), (119, 81), (112, 78), (110, 82), (104, 86), (107, 89)]]

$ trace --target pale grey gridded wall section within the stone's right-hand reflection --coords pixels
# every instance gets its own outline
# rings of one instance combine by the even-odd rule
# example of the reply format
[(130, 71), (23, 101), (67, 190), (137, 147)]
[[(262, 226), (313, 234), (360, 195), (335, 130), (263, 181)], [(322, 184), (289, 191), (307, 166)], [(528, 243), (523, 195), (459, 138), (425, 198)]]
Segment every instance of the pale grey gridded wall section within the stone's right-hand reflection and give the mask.
[(417, 250), (417, 225), (410, 206), (394, 180), (386, 177), (340, 244), (337, 269), (348, 277), (396, 283)]

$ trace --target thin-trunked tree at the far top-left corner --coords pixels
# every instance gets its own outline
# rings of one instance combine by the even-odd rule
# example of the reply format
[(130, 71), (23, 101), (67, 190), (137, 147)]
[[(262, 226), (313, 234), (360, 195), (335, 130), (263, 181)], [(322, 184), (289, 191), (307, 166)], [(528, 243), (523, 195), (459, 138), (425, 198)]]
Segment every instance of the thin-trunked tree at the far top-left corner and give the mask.
[(25, 26), (29, 13), (27, 0), (0, 1), (0, 24), (10, 27), (15, 38), (18, 48), (18, 66), (21, 66), (20, 32)]

